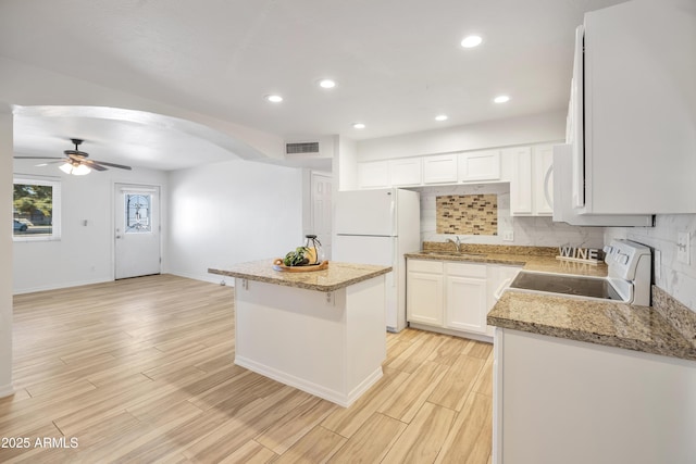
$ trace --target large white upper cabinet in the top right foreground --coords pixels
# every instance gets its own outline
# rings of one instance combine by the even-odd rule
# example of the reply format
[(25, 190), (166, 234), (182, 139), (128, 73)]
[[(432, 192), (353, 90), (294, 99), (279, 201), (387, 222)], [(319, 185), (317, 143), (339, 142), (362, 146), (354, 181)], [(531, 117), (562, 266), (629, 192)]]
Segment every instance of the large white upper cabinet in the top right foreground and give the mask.
[(694, 37), (693, 1), (634, 0), (585, 14), (567, 134), (575, 213), (696, 213)]

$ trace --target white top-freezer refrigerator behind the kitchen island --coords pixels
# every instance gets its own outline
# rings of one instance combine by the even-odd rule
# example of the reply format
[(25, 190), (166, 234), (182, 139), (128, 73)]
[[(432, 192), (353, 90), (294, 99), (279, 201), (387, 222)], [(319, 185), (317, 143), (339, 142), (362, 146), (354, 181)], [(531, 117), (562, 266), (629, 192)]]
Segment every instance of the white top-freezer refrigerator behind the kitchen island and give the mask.
[(386, 275), (387, 330), (406, 327), (406, 259), (421, 248), (417, 191), (388, 188), (336, 195), (332, 260), (391, 266)]

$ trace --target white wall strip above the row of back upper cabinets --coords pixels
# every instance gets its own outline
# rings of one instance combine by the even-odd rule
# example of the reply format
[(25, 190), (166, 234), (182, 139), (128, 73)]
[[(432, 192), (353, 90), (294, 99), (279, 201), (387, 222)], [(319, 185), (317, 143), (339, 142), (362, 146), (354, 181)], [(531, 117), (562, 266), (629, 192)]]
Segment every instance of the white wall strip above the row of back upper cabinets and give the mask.
[(357, 161), (532, 145), (564, 139), (566, 112), (561, 111), (361, 140), (358, 142)]

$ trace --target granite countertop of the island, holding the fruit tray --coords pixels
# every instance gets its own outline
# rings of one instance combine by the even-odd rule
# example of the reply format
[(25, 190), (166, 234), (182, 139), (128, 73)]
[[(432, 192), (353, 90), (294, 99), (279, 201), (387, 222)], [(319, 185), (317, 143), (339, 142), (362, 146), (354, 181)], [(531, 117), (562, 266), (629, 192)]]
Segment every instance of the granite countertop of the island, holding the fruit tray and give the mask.
[(275, 271), (273, 259), (234, 264), (224, 268), (209, 268), (210, 274), (246, 278), (285, 287), (303, 288), (315, 291), (336, 291), (368, 280), (391, 271), (389, 266), (370, 264), (348, 264), (331, 261), (328, 268), (304, 273)]

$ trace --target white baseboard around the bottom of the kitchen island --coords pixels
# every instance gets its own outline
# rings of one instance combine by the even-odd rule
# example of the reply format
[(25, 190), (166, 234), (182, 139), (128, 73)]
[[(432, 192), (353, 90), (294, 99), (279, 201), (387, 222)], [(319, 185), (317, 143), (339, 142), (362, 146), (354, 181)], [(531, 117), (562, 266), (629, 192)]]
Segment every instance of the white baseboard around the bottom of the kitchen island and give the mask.
[(322, 398), (326, 401), (331, 401), (332, 403), (336, 403), (339, 406), (344, 407), (350, 406), (362, 393), (364, 393), (370, 387), (372, 387), (377, 380), (380, 380), (380, 378), (382, 378), (382, 367), (378, 367), (374, 373), (370, 374), (370, 376), (368, 376), (368, 378), (365, 378), (358, 387), (346, 394), (340, 391), (322, 387), (319, 384), (307, 381), (283, 371), (278, 371), (274, 367), (257, 363), (244, 356), (235, 355), (235, 364), (240, 367), (248, 368), (249, 371), (253, 371), (257, 374), (261, 374), (264, 377), (272, 378), (273, 380), (279, 381), (281, 384), (289, 385), (290, 387), (295, 387), (298, 390), (302, 390), (307, 393)]

